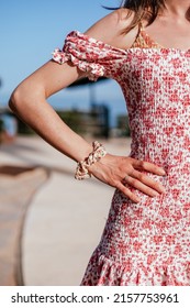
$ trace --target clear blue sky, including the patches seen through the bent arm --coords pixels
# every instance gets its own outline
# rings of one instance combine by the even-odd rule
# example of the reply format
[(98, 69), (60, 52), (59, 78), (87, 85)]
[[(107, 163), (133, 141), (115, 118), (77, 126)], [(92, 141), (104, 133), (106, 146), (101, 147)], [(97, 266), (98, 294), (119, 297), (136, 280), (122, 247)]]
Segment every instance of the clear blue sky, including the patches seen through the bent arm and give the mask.
[[(109, 13), (101, 6), (115, 7), (120, 3), (120, 0), (2, 0), (0, 105), (7, 103), (20, 81), (51, 58), (55, 47), (63, 46), (68, 32), (85, 32)], [(125, 112), (123, 95), (115, 81), (100, 82), (94, 87), (97, 102), (108, 103), (113, 114)], [(49, 102), (55, 109), (87, 109), (89, 88), (63, 90), (53, 96)]]

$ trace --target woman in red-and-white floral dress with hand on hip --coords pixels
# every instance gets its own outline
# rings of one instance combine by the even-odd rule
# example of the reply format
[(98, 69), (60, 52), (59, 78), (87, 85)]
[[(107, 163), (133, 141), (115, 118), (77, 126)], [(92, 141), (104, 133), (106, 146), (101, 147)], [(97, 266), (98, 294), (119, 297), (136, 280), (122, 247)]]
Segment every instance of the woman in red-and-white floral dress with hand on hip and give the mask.
[[(81, 285), (190, 285), (190, 26), (188, 0), (123, 1), (29, 76), (12, 110), (78, 162), (76, 178), (115, 187)], [(60, 65), (62, 64), (62, 65)], [(131, 153), (90, 145), (47, 105), (76, 79), (115, 79), (127, 101)]]

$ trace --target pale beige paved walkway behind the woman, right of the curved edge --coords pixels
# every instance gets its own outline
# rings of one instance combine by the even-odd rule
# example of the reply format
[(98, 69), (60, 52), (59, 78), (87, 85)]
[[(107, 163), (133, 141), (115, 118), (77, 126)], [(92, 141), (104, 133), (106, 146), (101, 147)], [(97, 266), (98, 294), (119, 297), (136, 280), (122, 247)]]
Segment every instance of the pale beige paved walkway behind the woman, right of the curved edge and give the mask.
[[(130, 139), (103, 142), (127, 155)], [(24, 221), (22, 270), (25, 285), (79, 285), (98, 244), (114, 189), (97, 179), (77, 182), (76, 163), (40, 138), (18, 138), (1, 146), (1, 165), (48, 170)]]

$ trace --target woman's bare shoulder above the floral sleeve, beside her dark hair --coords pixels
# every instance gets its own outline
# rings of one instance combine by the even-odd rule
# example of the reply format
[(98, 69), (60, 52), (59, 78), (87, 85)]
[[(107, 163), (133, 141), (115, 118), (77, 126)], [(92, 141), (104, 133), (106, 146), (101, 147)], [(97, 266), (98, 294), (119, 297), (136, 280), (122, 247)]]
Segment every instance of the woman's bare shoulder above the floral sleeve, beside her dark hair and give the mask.
[(133, 13), (127, 9), (118, 9), (86, 31), (88, 36), (100, 40), (118, 48), (127, 48), (135, 41), (137, 29), (124, 33), (133, 19)]

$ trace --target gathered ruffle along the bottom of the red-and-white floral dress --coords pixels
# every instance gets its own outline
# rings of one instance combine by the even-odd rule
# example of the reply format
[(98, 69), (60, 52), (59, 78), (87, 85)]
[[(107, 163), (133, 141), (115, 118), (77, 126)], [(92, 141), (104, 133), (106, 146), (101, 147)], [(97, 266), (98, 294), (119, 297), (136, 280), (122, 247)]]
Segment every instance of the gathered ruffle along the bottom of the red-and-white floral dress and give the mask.
[(190, 262), (168, 265), (115, 263), (93, 253), (81, 286), (190, 286)]

